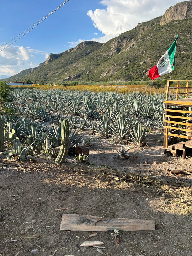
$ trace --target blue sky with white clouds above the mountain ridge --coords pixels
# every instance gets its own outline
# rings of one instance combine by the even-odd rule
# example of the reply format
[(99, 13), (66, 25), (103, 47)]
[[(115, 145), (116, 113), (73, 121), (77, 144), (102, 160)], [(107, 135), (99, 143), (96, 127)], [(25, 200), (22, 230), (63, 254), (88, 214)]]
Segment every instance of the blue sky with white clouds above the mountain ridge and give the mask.
[[(64, 0), (1, 0), (0, 47), (60, 6)], [(86, 40), (105, 43), (138, 23), (165, 13), (177, 0), (69, 0), (10, 47), (0, 48), (0, 78), (36, 67), (50, 53)], [(160, 6), (159, 6), (160, 5)], [(7, 44), (6, 44), (7, 46)]]

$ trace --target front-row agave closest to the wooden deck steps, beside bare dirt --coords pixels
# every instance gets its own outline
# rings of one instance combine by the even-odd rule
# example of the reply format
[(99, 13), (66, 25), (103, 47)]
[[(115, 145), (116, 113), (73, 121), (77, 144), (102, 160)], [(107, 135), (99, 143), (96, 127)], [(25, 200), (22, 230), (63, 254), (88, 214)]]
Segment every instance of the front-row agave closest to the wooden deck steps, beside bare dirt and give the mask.
[(134, 142), (139, 146), (142, 146), (146, 139), (146, 130), (147, 130), (146, 126), (142, 129), (141, 123), (137, 125), (135, 124), (131, 128), (131, 132), (130, 132), (130, 139), (132, 140), (132, 142)]

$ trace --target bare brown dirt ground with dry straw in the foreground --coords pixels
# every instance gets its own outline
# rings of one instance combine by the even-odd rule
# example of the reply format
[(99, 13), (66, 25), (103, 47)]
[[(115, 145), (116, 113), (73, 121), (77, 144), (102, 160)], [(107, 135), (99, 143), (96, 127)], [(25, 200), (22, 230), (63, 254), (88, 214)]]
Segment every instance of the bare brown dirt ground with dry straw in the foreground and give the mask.
[[(171, 173), (190, 172), (192, 154), (164, 155), (161, 143), (161, 133), (150, 133), (123, 160), (120, 144), (93, 137), (90, 165), (1, 159), (0, 256), (192, 255), (192, 176)], [(111, 231), (98, 232), (87, 239), (104, 243), (97, 251), (80, 246), (94, 232), (60, 230), (63, 213), (149, 219), (155, 230), (119, 231), (118, 245)]]

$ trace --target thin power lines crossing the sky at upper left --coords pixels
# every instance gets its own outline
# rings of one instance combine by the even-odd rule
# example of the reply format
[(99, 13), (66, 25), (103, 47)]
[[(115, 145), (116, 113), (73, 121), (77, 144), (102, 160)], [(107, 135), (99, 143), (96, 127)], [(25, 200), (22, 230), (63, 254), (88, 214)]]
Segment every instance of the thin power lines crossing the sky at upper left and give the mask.
[[(4, 45), (0, 46), (0, 48), (6, 46), (4, 49), (0, 50), (0, 52), (2, 52), (3, 50), (5, 50), (7, 47), (9, 47), (11, 44), (14, 44), (16, 41), (18, 41), (21, 37), (25, 36), (25, 34), (27, 34), (28, 32), (30, 32), (31, 30), (33, 30), (33, 28), (37, 27), (37, 25), (39, 25), (39, 23), (41, 23), (42, 21), (44, 21), (46, 18), (48, 18), (50, 15), (52, 15), (55, 11), (57, 11), (60, 7), (62, 7), (66, 2), (68, 2), (69, 0), (66, 0), (63, 4), (61, 4), (59, 7), (57, 7), (55, 10), (53, 10), (52, 12), (50, 12), (49, 14), (47, 14), (46, 16), (44, 16), (43, 18), (41, 18), (39, 21), (37, 21), (36, 23), (34, 23), (31, 27), (27, 28), (27, 30), (23, 31), (22, 33), (18, 34), (16, 37), (14, 37), (13, 39), (11, 39), (9, 42), (5, 43)], [(23, 34), (24, 33), (24, 34)], [(22, 36), (21, 36), (22, 35)], [(19, 37), (20, 36), (20, 37)], [(17, 38), (19, 37), (19, 38)], [(16, 39), (17, 38), (17, 39)], [(14, 39), (16, 39), (14, 42), (12, 42)], [(12, 42), (12, 43), (10, 43)], [(8, 43), (10, 43), (9, 45), (7, 45)]]

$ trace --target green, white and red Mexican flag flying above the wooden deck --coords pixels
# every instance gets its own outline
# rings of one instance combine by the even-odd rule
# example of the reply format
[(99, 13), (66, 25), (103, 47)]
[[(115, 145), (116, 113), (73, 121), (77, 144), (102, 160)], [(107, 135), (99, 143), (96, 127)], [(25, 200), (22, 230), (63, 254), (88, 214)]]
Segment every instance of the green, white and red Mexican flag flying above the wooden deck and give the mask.
[(148, 71), (149, 77), (154, 81), (159, 76), (170, 73), (174, 70), (175, 65), (175, 48), (177, 44), (177, 36), (175, 41), (171, 44), (171, 47), (160, 58), (157, 65)]

